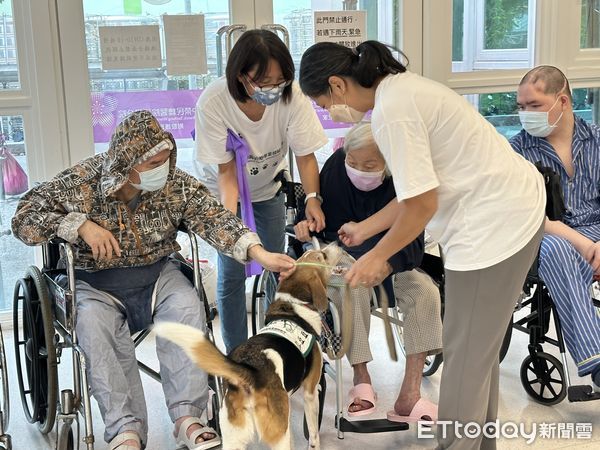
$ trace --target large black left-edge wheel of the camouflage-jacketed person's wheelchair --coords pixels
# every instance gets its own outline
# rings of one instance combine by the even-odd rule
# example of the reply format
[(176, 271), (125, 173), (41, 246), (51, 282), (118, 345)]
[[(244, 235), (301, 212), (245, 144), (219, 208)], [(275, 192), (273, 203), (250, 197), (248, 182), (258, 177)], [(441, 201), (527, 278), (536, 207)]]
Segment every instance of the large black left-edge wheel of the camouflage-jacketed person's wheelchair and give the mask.
[(54, 325), (48, 289), (31, 266), (14, 291), (13, 327), (17, 378), (25, 418), (47, 434), (54, 426), (58, 396)]

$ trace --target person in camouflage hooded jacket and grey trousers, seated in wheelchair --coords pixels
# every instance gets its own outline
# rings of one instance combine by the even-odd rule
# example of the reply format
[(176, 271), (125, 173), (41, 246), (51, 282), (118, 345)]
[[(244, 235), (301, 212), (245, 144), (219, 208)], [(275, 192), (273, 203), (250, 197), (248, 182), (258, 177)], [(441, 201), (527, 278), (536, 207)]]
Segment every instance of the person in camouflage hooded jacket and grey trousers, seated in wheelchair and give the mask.
[[(118, 125), (107, 152), (31, 189), (12, 221), (15, 236), (28, 245), (61, 238), (74, 249), (75, 330), (110, 449), (147, 442), (131, 334), (154, 321), (205, 326), (197, 291), (168, 258), (179, 249), (180, 226), (240, 262), (254, 259), (284, 272), (293, 267), (288, 256), (264, 250), (255, 233), (175, 163), (173, 136), (150, 112), (136, 111)], [(178, 446), (219, 445), (216, 431), (199, 419), (207, 375), (172, 343), (157, 339), (157, 354)]]

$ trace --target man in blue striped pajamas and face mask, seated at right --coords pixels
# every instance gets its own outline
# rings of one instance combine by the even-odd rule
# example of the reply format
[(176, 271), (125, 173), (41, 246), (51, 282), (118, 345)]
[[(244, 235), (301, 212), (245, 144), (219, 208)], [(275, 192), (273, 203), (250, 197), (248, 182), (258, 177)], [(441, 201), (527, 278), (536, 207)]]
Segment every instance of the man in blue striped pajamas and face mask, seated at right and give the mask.
[(600, 309), (590, 285), (600, 279), (600, 127), (573, 114), (569, 82), (556, 67), (538, 66), (517, 91), (523, 130), (513, 148), (560, 174), (566, 212), (546, 219), (539, 274), (557, 307), (580, 376), (600, 388)]

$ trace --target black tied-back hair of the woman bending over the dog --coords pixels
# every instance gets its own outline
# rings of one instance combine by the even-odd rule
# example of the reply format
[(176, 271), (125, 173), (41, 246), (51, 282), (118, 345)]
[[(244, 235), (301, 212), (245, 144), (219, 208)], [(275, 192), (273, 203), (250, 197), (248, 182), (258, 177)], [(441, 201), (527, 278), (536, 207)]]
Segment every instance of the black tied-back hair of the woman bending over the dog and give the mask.
[(391, 50), (400, 50), (378, 41), (365, 41), (356, 49), (332, 42), (320, 42), (309, 47), (300, 61), (300, 87), (309, 97), (318, 97), (329, 91), (332, 75), (353, 78), (362, 87), (370, 88), (385, 75), (406, 72), (406, 65), (398, 61)]

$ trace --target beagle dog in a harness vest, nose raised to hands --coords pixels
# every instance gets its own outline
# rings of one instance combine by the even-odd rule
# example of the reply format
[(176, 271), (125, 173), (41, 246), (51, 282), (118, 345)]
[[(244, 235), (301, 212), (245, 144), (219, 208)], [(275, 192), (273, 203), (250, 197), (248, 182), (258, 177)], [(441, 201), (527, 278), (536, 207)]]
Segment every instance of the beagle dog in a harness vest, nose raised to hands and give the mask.
[[(244, 449), (255, 431), (273, 449), (291, 449), (289, 395), (302, 387), (309, 448), (319, 448), (317, 388), (321, 378), (321, 317), (327, 282), (341, 250), (330, 244), (309, 250), (292, 275), (281, 280), (265, 327), (225, 356), (195, 328), (158, 323), (158, 336), (181, 346), (206, 372), (224, 379), (219, 411), (223, 449)], [(306, 264), (300, 264), (306, 263)]]

